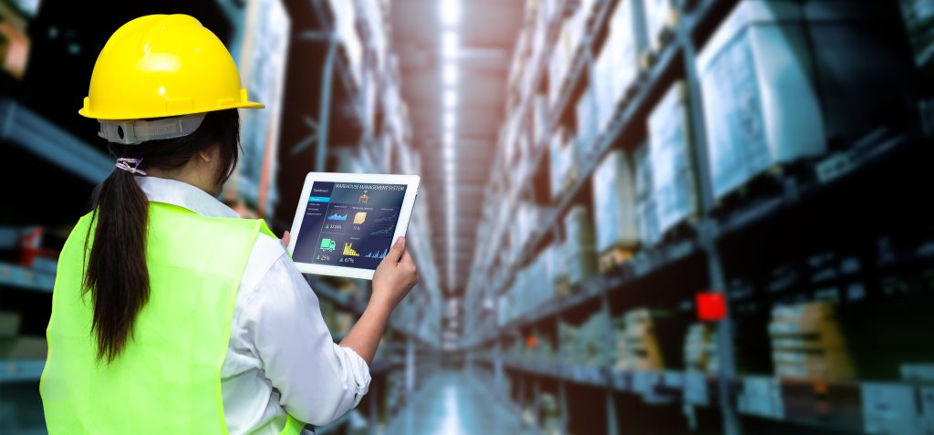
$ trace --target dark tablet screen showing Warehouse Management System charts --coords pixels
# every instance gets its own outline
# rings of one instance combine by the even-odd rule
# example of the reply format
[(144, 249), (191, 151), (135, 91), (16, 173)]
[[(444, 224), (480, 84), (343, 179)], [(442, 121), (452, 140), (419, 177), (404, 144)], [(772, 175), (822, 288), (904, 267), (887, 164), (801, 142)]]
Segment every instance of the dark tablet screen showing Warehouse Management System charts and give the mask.
[(376, 268), (392, 246), (405, 185), (316, 181), (292, 260)]

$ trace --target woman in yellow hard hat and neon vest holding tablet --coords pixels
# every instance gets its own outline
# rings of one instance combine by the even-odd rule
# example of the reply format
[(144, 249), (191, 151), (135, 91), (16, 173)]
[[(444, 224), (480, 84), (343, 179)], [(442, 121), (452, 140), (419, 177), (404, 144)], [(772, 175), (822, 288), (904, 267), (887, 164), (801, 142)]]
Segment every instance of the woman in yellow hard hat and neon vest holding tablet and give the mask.
[(389, 314), (417, 282), (404, 240), (334, 344), (280, 241), (216, 199), (238, 108), (262, 105), (189, 16), (130, 21), (101, 51), (79, 113), (117, 167), (59, 261), (40, 384), (50, 433), (294, 434), (366, 394)]

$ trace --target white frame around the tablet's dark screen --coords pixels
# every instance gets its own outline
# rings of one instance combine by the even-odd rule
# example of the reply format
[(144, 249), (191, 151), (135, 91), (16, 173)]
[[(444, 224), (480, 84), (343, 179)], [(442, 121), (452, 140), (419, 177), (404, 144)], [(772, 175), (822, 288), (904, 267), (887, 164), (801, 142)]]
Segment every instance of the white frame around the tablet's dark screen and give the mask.
[[(405, 195), (403, 204), (399, 209), (399, 220), (396, 223), (396, 231), (392, 233), (392, 243), (405, 235), (408, 231), (409, 219), (412, 217), (412, 209), (415, 206), (415, 199), (418, 195), (418, 184), (421, 177), (418, 175), (394, 175), (394, 174), (343, 174), (343, 173), (308, 173), (304, 177), (304, 186), (302, 187), (302, 196), (299, 198), (298, 207), (295, 210), (295, 218), (292, 220), (291, 239), (289, 241), (289, 255), (295, 250), (299, 232), (302, 230), (304, 213), (308, 207), (308, 198), (311, 195), (311, 187), (316, 181), (332, 183), (358, 183), (358, 184), (395, 184), (405, 185)], [(330, 266), (324, 264), (303, 263), (295, 261), (298, 270), (303, 274), (323, 274), (330, 276), (343, 276), (347, 278), (373, 279), (375, 271), (369, 269), (356, 269), (352, 267)]]

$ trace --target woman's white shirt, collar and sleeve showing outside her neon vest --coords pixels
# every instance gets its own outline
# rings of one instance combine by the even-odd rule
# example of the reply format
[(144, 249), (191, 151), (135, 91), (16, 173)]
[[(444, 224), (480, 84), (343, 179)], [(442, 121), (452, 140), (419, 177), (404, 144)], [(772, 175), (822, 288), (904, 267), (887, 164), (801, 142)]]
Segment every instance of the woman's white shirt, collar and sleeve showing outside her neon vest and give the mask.
[[(238, 217), (189, 184), (135, 178), (149, 201), (208, 217)], [(257, 237), (240, 281), (220, 373), (232, 435), (277, 434), (286, 411), (315, 426), (328, 424), (357, 406), (370, 387), (366, 361), (334, 344), (318, 297), (279, 240), (266, 234)]]

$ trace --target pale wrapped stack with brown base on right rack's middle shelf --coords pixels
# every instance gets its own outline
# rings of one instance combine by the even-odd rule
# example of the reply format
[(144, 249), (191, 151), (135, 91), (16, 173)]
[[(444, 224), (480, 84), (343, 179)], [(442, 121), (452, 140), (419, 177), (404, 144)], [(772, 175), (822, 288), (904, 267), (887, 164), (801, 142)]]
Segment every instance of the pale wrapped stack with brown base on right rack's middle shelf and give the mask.
[(594, 171), (591, 184), (603, 272), (628, 260), (639, 245), (635, 176), (625, 151), (610, 151)]

